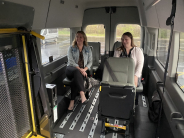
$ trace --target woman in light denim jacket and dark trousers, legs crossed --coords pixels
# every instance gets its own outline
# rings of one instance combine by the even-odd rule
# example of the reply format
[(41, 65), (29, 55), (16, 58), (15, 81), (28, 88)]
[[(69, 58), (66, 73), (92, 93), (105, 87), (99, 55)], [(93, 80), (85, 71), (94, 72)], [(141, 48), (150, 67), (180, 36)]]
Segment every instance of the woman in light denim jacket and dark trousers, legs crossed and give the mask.
[(83, 31), (76, 33), (73, 44), (68, 49), (67, 57), (66, 76), (72, 80), (71, 101), (68, 107), (68, 112), (71, 112), (78, 93), (80, 93), (82, 104), (88, 102), (84, 94), (84, 78), (87, 77), (86, 71), (92, 65), (92, 52), (87, 44), (86, 34)]

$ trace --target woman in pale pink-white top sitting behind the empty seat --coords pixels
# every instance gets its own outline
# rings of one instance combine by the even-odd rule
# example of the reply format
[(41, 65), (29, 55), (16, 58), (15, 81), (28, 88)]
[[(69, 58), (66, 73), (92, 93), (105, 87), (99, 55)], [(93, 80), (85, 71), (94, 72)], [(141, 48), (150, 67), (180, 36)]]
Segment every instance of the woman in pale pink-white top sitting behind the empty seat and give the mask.
[(114, 51), (114, 57), (131, 57), (135, 62), (134, 84), (139, 86), (138, 78), (141, 77), (144, 64), (144, 55), (142, 50), (134, 45), (133, 36), (130, 32), (126, 32), (121, 37), (122, 46)]

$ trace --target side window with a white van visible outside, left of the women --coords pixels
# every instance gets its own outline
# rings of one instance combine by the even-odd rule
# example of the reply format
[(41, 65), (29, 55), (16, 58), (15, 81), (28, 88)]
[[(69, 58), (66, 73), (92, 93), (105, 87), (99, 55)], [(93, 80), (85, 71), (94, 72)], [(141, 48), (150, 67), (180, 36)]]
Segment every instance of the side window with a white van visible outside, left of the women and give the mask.
[(45, 40), (40, 40), (42, 64), (49, 62), (49, 57), (53, 60), (67, 55), (70, 46), (70, 28), (42, 29), (41, 35)]

